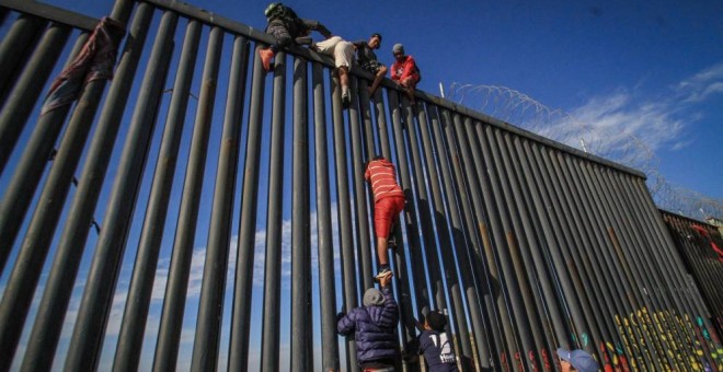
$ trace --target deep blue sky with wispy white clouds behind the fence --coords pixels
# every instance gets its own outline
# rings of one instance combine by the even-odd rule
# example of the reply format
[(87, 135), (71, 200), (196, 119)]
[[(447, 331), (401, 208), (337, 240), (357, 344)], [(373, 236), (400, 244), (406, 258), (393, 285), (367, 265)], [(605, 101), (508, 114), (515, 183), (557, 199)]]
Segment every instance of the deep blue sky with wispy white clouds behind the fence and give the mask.
[[(112, 8), (111, 1), (99, 0), (45, 2), (96, 18), (107, 14)], [(267, 5), (266, 1), (205, 0), (190, 3), (256, 28), (263, 30), (265, 26), (263, 10)], [(481, 92), (464, 96), (463, 104), (472, 108), (536, 129), (544, 129), (540, 125), (550, 124), (548, 130), (551, 130), (551, 135), (562, 133), (570, 126), (583, 124), (586, 128), (599, 130), (602, 135), (596, 136), (595, 140), (608, 147), (624, 147), (630, 137), (618, 138), (617, 135), (628, 132), (655, 154), (655, 164), (669, 183), (723, 199), (723, 156), (720, 150), (723, 139), (723, 22), (720, 21), (723, 3), (720, 1), (286, 3), (296, 9), (300, 16), (320, 20), (334, 34), (351, 40), (366, 38), (374, 32), (381, 33), (383, 42), (377, 54), (382, 62), (391, 63), (391, 47), (394, 43), (404, 44), (406, 53), (416, 58), (422, 69), (423, 81), (418, 88), (424, 91), (439, 94), (441, 84), (449, 95), (455, 92), (452, 86), (469, 84)], [(144, 69), (141, 66), (139, 71)], [(531, 117), (500, 109), (500, 100), (505, 94), (512, 94), (510, 101), (535, 102), (539, 104), (536, 107), (546, 109)], [(217, 105), (221, 103), (222, 97), (217, 97)], [(188, 116), (193, 118), (193, 112)], [(564, 120), (554, 123), (553, 119), (558, 117)], [(517, 123), (517, 118), (529, 123)], [(161, 116), (159, 120), (163, 123), (163, 119)], [(560, 123), (563, 126), (555, 127)], [(288, 132), (290, 130), (287, 130), (287, 137)], [(152, 172), (153, 166), (154, 162), (149, 161), (147, 173), (148, 170)], [(107, 177), (112, 179), (113, 174), (110, 172)], [(182, 177), (183, 172), (177, 171), (176, 179)], [(179, 185), (177, 181), (175, 185)], [(208, 195), (207, 191), (205, 194)], [(288, 249), (288, 200), (285, 204), (284, 247)], [(204, 208), (209, 208), (210, 202)], [(177, 207), (177, 204), (173, 205), (169, 214), (173, 216)], [(202, 208), (202, 216), (207, 214), (206, 209)], [(260, 214), (260, 224), (263, 225), (265, 216)], [(102, 214), (99, 213), (96, 218), (102, 218)], [(204, 220), (200, 221), (199, 224), (204, 224)], [(134, 223), (135, 233), (141, 223), (142, 218)], [(234, 222), (234, 229), (237, 226)], [(171, 230), (170, 233), (168, 230)], [(172, 229), (167, 229), (167, 235), (163, 242), (165, 249), (159, 261), (147, 342), (154, 341), (154, 333), (151, 330), (158, 327), (170, 260), (168, 247), (173, 243)], [(336, 233), (334, 237), (337, 237)], [(94, 239), (91, 233), (88, 247), (94, 245)], [(236, 239), (232, 242), (230, 263), (234, 261)], [(260, 230), (256, 234), (257, 254), (254, 264), (259, 268), (254, 270), (256, 283), (262, 282), (264, 264), (261, 253), (264, 242), (264, 231)], [(205, 243), (206, 235), (199, 232), (193, 264), (196, 269), (192, 271), (188, 294), (190, 298), (195, 295), (196, 300), (200, 289)], [(88, 270), (91, 251), (87, 248), (81, 278), (82, 271)], [(131, 272), (133, 252), (130, 248), (126, 252), (116, 301), (108, 321), (106, 336), (111, 341), (104, 347), (106, 358), (112, 358), (114, 336), (117, 338), (125, 291)], [(315, 257), (315, 249), (312, 252)], [(289, 269), (289, 255), (285, 253), (284, 257), (285, 269)], [(231, 272), (229, 276), (232, 278)], [(7, 277), (0, 277), (2, 288)], [(71, 313), (77, 311), (82, 284), (77, 283), (79, 290), (71, 302)], [(259, 288), (263, 287), (257, 286), (254, 290), (257, 299), (262, 292)], [(288, 288), (285, 288), (284, 293), (287, 291)], [(230, 307), (227, 306), (225, 318), (228, 318), (229, 313)], [(192, 318), (195, 315), (193, 306), (186, 310), (188, 327), (184, 330), (182, 356), (190, 357), (192, 350)], [(70, 314), (68, 319), (72, 317)], [(284, 322), (286, 319), (283, 318), (282, 327), (288, 329), (288, 322)], [(252, 329), (257, 335), (261, 326), (259, 313), (252, 318), (252, 324), (259, 327)], [(64, 339), (70, 337), (71, 330), (69, 327), (64, 329)], [(228, 338), (228, 333), (222, 337)], [(67, 348), (67, 342), (61, 344), (60, 352), (64, 347)], [(152, 348), (147, 351), (152, 352)], [(149, 362), (147, 353), (141, 363)], [(282, 370), (286, 369), (283, 367)]]

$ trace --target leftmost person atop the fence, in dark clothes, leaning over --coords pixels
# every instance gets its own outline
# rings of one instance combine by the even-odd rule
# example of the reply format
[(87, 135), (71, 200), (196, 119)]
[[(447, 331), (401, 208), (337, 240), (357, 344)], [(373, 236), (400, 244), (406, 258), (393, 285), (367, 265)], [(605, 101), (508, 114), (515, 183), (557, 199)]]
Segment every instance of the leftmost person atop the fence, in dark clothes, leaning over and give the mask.
[(271, 61), (280, 48), (289, 45), (310, 45), (312, 31), (317, 31), (325, 38), (330, 38), (331, 32), (319, 21), (303, 20), (296, 12), (280, 2), (272, 2), (264, 11), (268, 24), (266, 33), (274, 36), (276, 40), (271, 47), (259, 49), (261, 62), (266, 71), (271, 70)]

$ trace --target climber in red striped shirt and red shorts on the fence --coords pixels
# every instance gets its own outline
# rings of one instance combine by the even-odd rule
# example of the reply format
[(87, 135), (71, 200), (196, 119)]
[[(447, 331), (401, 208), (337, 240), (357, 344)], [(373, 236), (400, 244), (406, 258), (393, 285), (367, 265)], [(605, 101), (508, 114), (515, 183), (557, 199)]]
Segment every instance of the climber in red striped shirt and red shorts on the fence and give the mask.
[(377, 279), (391, 276), (389, 253), (387, 252), (389, 230), (404, 209), (404, 191), (397, 183), (394, 164), (383, 156), (376, 156), (367, 163), (364, 178), (371, 184), (374, 193), (374, 230), (377, 235), (377, 256), (379, 257), (379, 274)]

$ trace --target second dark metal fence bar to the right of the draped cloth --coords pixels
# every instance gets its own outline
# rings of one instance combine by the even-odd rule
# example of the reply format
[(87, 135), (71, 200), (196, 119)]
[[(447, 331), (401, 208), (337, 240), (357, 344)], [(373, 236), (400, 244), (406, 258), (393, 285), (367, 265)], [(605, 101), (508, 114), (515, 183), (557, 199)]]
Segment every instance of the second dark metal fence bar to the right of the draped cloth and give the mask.
[[(115, 11), (114, 11), (115, 12)], [(170, 44), (169, 35), (175, 30), (175, 14), (164, 15), (163, 26), (169, 32), (160, 32), (157, 43)], [(160, 30), (164, 30), (161, 27)], [(162, 45), (161, 44), (161, 45)], [(167, 47), (170, 47), (168, 45)], [(167, 51), (170, 51), (167, 49)], [(159, 55), (161, 58), (162, 55)], [(147, 72), (149, 72), (147, 70)], [(161, 72), (161, 71), (159, 71)], [(120, 258), (126, 246), (128, 226), (137, 200), (142, 170), (148, 158), (150, 137), (158, 115), (158, 102), (167, 71), (158, 74), (147, 74), (144, 85), (146, 90), (139, 96), (144, 101), (137, 106), (137, 118), (128, 135), (128, 141), (123, 151), (119, 172), (113, 186), (108, 209), (104, 218), (104, 229), (101, 231), (95, 254), (91, 264), (91, 275), (79, 310), (78, 322), (73, 328), (71, 347), (66, 359), (67, 370), (94, 369), (100, 358), (100, 349), (107, 316), (113, 301), (113, 291), (120, 269)], [(103, 86), (91, 89), (87, 85), (83, 95), (100, 96)], [(80, 98), (82, 101), (82, 96)], [(97, 100), (97, 98), (96, 98)], [(73, 117), (78, 111), (73, 113)], [(90, 115), (90, 114), (89, 114)], [(92, 117), (92, 115), (90, 115)], [(89, 118), (90, 119), (90, 118)]]

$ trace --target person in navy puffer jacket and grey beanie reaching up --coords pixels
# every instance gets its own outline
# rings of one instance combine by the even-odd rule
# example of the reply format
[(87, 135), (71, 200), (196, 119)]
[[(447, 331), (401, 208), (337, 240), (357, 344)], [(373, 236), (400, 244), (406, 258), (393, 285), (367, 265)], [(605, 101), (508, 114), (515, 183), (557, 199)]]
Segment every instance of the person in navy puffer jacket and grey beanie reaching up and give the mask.
[(368, 289), (364, 293), (363, 306), (337, 316), (338, 334), (354, 334), (356, 359), (364, 372), (394, 371), (394, 361), (399, 358), (394, 336), (394, 328), (399, 323), (399, 306), (392, 295), (390, 281), (391, 276), (381, 278), (381, 290)]

